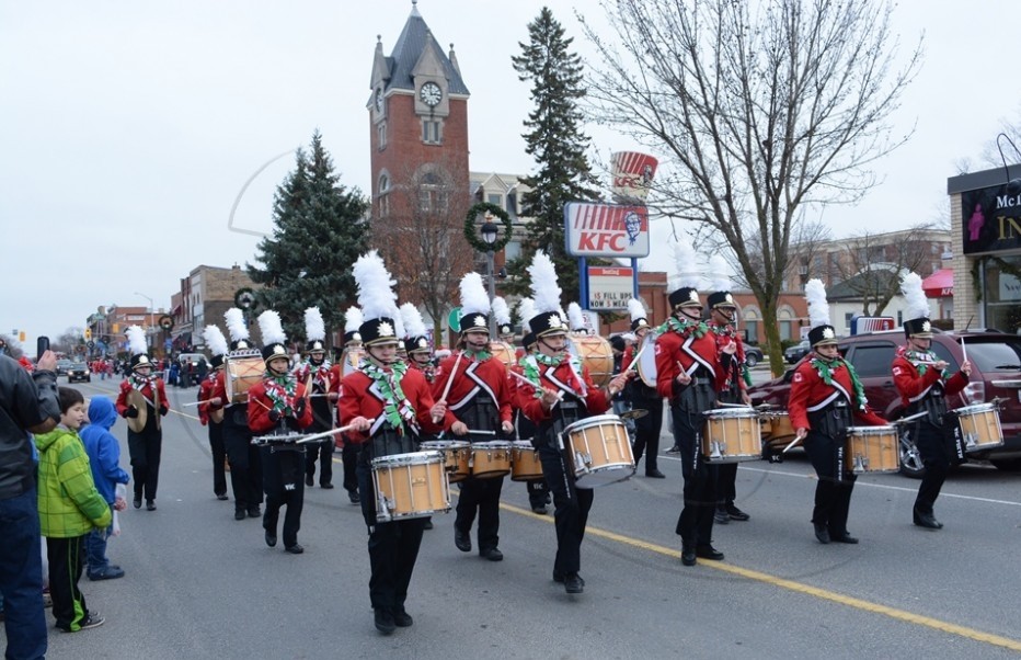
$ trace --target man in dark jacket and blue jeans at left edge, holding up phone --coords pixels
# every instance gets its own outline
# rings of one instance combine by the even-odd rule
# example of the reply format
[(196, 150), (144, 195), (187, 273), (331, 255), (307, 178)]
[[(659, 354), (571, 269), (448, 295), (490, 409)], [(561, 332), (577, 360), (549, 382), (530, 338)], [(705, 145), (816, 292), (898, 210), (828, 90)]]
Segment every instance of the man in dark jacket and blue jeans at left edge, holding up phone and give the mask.
[(0, 356), (0, 593), (8, 658), (46, 655), (37, 474), (28, 432), (51, 431), (60, 419), (57, 356), (46, 351), (31, 376)]

